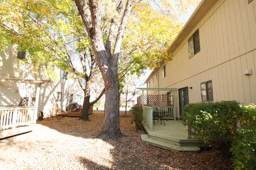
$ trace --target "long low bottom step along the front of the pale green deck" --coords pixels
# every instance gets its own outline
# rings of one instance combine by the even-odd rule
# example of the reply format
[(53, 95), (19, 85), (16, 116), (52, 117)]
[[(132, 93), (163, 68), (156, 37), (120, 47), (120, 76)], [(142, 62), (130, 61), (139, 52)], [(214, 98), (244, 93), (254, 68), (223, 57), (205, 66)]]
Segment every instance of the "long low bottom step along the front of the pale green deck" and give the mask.
[(188, 151), (188, 152), (198, 152), (200, 150), (200, 148), (196, 146), (178, 146), (173, 143), (167, 143), (164, 141), (151, 139), (149, 138), (148, 134), (141, 134), (141, 140), (163, 149)]

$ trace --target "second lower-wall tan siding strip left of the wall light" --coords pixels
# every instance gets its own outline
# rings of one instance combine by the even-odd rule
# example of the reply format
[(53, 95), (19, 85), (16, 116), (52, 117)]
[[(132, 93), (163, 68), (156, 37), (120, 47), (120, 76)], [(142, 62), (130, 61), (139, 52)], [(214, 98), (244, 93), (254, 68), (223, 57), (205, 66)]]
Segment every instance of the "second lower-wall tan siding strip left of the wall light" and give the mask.
[[(230, 68), (231, 68), (231, 78), (232, 78), (232, 87), (233, 87), (233, 99), (239, 101), (238, 95), (238, 81), (237, 81), (237, 73), (236, 73), (236, 62), (235, 60), (230, 61)], [(241, 83), (241, 82), (239, 82)]]

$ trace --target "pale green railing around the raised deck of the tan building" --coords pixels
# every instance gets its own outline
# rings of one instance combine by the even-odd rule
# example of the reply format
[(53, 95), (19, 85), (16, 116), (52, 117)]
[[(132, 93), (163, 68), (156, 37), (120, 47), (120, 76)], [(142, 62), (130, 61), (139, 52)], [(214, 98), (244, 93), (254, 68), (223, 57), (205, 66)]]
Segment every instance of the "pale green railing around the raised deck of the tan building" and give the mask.
[(153, 131), (153, 112), (163, 111), (163, 120), (176, 120), (175, 107), (173, 106), (142, 106), (143, 118), (149, 129)]

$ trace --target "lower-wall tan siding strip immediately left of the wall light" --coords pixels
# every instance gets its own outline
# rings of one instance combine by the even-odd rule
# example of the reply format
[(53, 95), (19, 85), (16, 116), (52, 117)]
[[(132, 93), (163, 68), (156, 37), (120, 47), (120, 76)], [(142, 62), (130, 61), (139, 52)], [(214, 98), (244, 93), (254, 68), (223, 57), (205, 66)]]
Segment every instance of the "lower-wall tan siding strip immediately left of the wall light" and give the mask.
[(243, 84), (243, 75), (242, 75), (242, 67), (241, 67), (241, 58), (240, 57), (237, 57), (235, 59), (235, 65), (236, 65), (236, 77), (237, 77), (239, 101), (241, 101), (242, 103), (245, 103), (244, 84)]

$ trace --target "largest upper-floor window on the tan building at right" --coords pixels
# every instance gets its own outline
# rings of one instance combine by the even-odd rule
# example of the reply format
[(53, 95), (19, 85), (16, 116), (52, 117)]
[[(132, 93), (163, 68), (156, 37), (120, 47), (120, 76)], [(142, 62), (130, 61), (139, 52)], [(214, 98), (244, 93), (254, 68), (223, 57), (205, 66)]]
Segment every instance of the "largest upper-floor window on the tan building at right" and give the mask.
[(188, 56), (189, 58), (196, 55), (198, 52), (200, 52), (200, 40), (199, 40), (199, 30), (196, 30), (196, 32), (188, 39)]

